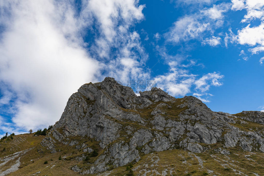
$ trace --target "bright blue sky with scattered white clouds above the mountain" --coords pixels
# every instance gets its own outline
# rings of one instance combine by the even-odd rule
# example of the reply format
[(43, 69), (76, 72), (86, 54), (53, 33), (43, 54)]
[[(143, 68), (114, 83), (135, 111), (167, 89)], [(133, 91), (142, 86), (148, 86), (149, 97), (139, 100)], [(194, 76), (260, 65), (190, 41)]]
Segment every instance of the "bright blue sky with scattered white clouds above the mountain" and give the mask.
[(154, 80), (213, 111), (264, 111), (262, 0), (13, 0), (0, 15), (2, 135), (54, 124), (106, 76)]

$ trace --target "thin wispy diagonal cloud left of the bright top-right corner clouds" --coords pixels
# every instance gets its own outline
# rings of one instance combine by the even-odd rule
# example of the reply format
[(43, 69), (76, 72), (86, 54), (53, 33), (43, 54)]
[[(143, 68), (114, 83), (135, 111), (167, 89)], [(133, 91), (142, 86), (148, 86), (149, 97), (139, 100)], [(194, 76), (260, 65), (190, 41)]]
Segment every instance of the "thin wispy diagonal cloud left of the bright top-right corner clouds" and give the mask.
[(220, 28), (224, 24), (224, 13), (230, 8), (230, 3), (221, 3), (213, 5), (211, 8), (204, 8), (199, 12), (191, 15), (185, 15), (173, 23), (169, 32), (165, 33), (165, 38), (169, 42), (180, 43), (181, 41), (189, 41), (197, 39), (203, 42), (203, 38), (212, 38), (210, 44), (218, 45), (219, 39), (212, 34), (215, 29)]

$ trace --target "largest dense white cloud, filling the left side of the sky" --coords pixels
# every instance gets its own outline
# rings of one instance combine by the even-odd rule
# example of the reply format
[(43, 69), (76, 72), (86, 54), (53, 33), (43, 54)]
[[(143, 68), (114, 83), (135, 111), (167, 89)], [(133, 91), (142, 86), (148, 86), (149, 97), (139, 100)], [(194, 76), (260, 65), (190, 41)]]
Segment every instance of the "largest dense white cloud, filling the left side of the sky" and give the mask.
[[(9, 20), (1, 21), (6, 29), (0, 41), (0, 80), (13, 95), (6, 92), (1, 103), (16, 97), (11, 108), (16, 109), (12, 121), (17, 131), (47, 127), (60, 118), (69, 96), (93, 81), (99, 69), (80, 38), (89, 19), (80, 21), (73, 7), (62, 2), (4, 2), (1, 8), (3, 4), (10, 8), (1, 14)], [(0, 128), (12, 128), (6, 125)]]

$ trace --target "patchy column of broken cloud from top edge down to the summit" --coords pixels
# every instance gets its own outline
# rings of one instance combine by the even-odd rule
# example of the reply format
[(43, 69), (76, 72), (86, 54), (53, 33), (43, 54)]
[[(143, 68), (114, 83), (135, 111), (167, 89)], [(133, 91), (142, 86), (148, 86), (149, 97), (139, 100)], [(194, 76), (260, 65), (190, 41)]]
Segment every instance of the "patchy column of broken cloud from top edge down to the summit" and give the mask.
[[(95, 24), (99, 25), (99, 34), (95, 37), (95, 43), (91, 44), (91, 49), (96, 53), (93, 56), (104, 62), (103, 72), (106, 74), (101, 75), (102, 79), (107, 75), (126, 82), (149, 77), (149, 70), (142, 69), (148, 54), (138, 32), (130, 30), (131, 26), (144, 19), (144, 7), (138, 4), (138, 0), (88, 1), (85, 9), (91, 12)], [(141, 34), (148, 40), (144, 29)]]

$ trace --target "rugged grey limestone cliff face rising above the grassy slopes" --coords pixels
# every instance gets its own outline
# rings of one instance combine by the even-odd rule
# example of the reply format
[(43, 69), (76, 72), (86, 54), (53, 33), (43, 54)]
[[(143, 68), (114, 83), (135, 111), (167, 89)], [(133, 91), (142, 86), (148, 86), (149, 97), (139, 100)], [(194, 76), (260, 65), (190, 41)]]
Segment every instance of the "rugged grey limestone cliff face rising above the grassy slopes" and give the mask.
[(264, 113), (253, 111), (213, 112), (195, 97), (176, 99), (159, 88), (136, 96), (130, 87), (107, 77), (72, 94), (41, 145), (54, 153), (61, 142), (89, 153), (93, 149), (70, 137), (98, 141), (101, 151), (96, 161), (88, 169), (72, 167), (81, 174), (94, 174), (137, 162), (142, 154), (179, 147), (203, 152), (210, 147), (204, 144), (219, 143), (264, 152), (263, 117)]

